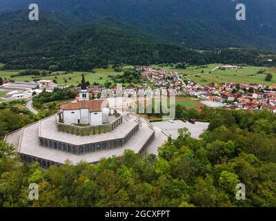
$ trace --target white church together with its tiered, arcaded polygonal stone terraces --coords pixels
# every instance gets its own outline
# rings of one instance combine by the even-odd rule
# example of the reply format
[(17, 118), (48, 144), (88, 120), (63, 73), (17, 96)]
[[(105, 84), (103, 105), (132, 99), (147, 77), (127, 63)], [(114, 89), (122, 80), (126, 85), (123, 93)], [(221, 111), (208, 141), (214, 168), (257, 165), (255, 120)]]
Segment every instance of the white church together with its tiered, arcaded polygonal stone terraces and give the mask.
[[(159, 133), (161, 142), (167, 139)], [(68, 160), (97, 163), (130, 149), (143, 153), (155, 139), (155, 128), (146, 119), (110, 106), (107, 99), (89, 100), (84, 76), (75, 102), (64, 104), (55, 115), (25, 126), (5, 137), (25, 162), (44, 168)], [(160, 144), (161, 144), (160, 142)], [(154, 143), (153, 145), (157, 145)], [(159, 143), (158, 143), (159, 145)]]

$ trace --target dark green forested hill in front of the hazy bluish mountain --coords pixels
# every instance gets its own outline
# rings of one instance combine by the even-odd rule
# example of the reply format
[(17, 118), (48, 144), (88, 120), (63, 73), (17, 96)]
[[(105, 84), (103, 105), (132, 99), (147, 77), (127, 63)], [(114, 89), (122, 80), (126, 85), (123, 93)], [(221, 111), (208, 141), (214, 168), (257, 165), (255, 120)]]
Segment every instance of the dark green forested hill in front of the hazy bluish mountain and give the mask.
[(192, 50), (152, 37), (116, 19), (80, 25), (62, 21), (55, 12), (41, 12), (39, 21), (29, 21), (26, 10), (3, 14), (0, 39), (0, 62), (6, 64), (6, 69), (48, 70), (55, 65), (57, 70), (90, 71), (108, 64), (177, 62), (268, 64), (257, 50)]

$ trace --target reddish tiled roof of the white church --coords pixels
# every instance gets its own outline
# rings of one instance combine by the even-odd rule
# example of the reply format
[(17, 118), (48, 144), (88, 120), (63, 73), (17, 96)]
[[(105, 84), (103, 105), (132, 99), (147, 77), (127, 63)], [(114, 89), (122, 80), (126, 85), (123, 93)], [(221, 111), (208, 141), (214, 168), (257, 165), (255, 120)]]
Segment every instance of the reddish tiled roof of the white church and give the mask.
[[(101, 106), (104, 101), (107, 101), (105, 99), (93, 99), (93, 100), (83, 100), (77, 103), (68, 103), (68, 104), (63, 104), (61, 106), (61, 110), (66, 111), (66, 110), (77, 110), (77, 109), (85, 109), (88, 108), (89, 112), (99, 112), (101, 111)], [(108, 106), (108, 103), (103, 106)]]

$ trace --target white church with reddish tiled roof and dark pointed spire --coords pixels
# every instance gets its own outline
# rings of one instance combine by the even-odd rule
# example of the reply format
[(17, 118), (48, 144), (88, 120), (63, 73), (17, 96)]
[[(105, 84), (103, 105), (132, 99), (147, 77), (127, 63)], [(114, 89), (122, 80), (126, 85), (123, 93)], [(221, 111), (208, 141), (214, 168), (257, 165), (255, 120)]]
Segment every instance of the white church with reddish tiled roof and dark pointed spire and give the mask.
[(81, 79), (81, 90), (77, 102), (63, 104), (61, 115), (64, 124), (80, 124), (96, 126), (108, 123), (110, 109), (107, 99), (89, 99), (84, 75)]

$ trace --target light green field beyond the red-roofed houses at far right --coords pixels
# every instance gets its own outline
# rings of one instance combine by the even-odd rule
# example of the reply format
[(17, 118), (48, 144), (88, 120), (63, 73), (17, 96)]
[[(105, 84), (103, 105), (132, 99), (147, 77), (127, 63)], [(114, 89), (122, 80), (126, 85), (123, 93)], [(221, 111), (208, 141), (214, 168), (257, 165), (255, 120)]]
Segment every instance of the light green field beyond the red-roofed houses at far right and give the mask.
[[(266, 73), (273, 74), (271, 81), (265, 81), (266, 74), (257, 74), (259, 70), (266, 70)], [(200, 77), (199, 77), (200, 76)], [(185, 77), (184, 77), (185, 79)], [(236, 82), (236, 83), (247, 83), (247, 84), (276, 84), (276, 68), (266, 67), (255, 67), (255, 66), (244, 66), (244, 68), (237, 70), (219, 70), (216, 69), (212, 73), (199, 73), (197, 76), (188, 76), (199, 84), (209, 83), (225, 83), (225, 82)]]

